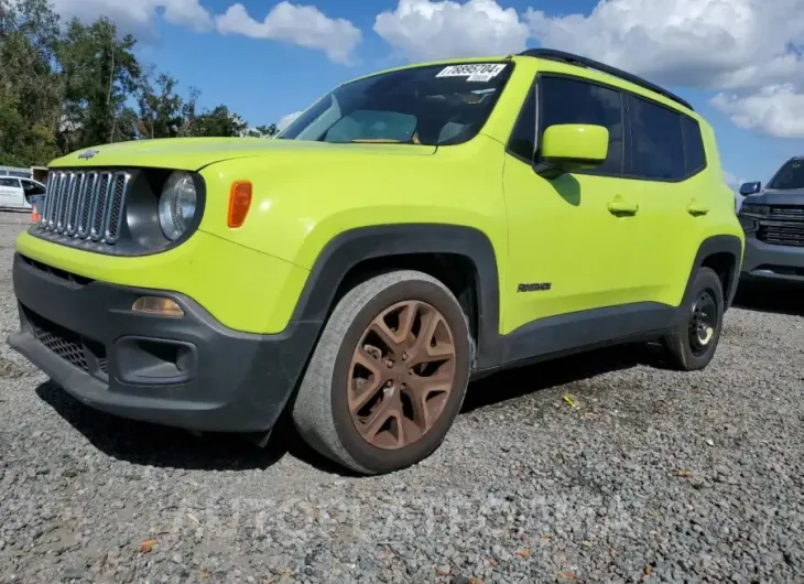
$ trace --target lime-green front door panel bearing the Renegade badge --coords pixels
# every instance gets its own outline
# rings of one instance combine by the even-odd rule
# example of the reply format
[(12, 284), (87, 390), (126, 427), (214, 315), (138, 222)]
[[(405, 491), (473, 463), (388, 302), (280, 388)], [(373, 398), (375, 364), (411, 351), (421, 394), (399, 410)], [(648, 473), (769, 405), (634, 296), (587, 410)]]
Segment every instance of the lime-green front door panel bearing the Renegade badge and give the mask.
[(634, 288), (639, 219), (617, 217), (606, 206), (620, 193), (617, 183), (571, 174), (547, 181), (507, 158), (511, 282), (506, 292), (515, 300), (503, 333), (539, 318), (643, 300)]

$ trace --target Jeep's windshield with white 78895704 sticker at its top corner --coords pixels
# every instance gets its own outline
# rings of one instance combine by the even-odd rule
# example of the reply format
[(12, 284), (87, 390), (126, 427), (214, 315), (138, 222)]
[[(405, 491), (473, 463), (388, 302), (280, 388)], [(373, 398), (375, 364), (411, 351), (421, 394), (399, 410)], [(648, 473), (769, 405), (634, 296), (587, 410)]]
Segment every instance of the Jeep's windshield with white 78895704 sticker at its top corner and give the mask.
[(458, 144), (474, 138), (512, 63), (466, 63), (382, 73), (341, 85), (276, 138), (322, 142)]

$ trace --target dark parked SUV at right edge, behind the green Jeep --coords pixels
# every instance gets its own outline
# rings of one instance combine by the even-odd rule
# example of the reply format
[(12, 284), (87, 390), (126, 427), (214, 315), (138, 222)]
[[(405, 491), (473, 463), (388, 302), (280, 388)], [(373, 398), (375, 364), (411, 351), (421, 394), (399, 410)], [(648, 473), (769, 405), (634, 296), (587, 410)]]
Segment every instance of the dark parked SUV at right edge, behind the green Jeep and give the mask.
[(804, 156), (782, 164), (765, 188), (743, 183), (740, 194), (742, 279), (804, 282)]

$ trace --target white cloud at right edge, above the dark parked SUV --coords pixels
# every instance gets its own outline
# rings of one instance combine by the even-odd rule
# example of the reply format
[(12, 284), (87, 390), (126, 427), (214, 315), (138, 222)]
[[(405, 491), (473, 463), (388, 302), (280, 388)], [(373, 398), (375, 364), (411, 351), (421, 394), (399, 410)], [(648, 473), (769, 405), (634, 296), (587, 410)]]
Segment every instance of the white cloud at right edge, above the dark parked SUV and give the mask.
[(804, 138), (804, 93), (793, 84), (771, 85), (746, 96), (721, 93), (711, 102), (740, 128)]

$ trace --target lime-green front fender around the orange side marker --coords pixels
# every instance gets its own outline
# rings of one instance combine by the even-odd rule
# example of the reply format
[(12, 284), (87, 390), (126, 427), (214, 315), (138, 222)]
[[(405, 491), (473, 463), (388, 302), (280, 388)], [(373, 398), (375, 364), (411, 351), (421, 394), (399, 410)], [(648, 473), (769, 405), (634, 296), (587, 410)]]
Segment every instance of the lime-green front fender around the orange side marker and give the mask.
[[(381, 151), (383, 145), (374, 148)], [(209, 193), (226, 193), (232, 181), (250, 180), (253, 198), (248, 217), (242, 227), (229, 228), (228, 196), (208, 196), (200, 229), (306, 271), (315, 270), (327, 246), (350, 231), (412, 225), (463, 227), (490, 242), (499, 268), (495, 285), (502, 290), (509, 249), (502, 163), (502, 147), (485, 136), (425, 156), (322, 153), (313, 170), (307, 159), (294, 156), (265, 159), (260, 164), (232, 160), (202, 173)], [(409, 239), (396, 238), (394, 246), (381, 249), (389, 255), (471, 249), (471, 241), (461, 242), (464, 231), (457, 229), (428, 239), (426, 249), (415, 230), (401, 232)], [(338, 282), (328, 285), (334, 291)], [(298, 295), (286, 294), (278, 301), (282, 306), (276, 310), (289, 314)], [(501, 299), (502, 314), (510, 310), (509, 302), (510, 296)]]

